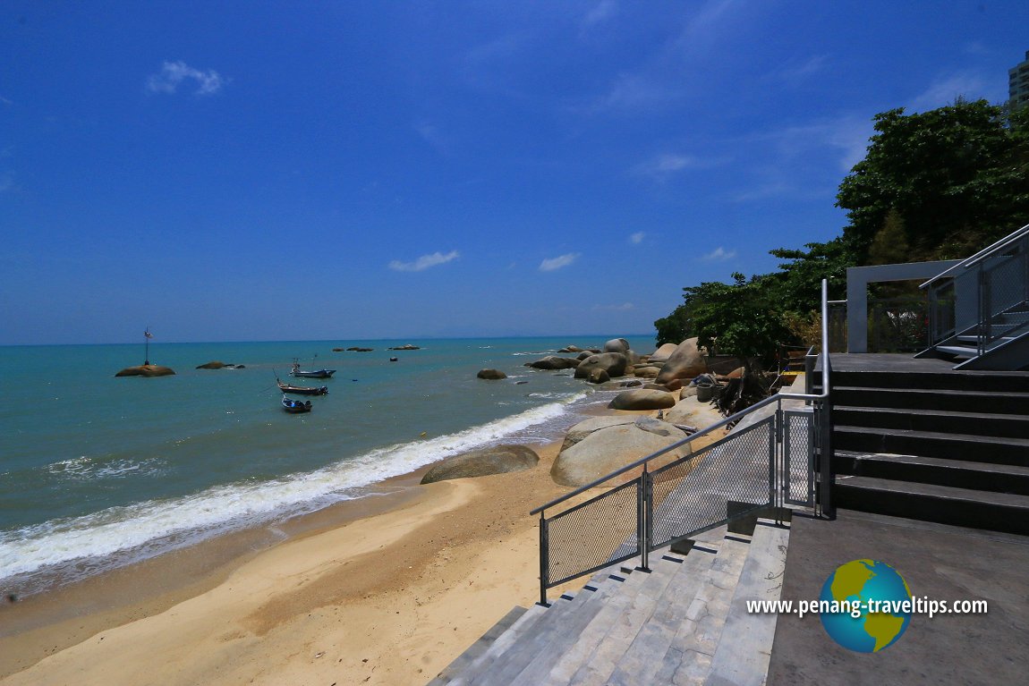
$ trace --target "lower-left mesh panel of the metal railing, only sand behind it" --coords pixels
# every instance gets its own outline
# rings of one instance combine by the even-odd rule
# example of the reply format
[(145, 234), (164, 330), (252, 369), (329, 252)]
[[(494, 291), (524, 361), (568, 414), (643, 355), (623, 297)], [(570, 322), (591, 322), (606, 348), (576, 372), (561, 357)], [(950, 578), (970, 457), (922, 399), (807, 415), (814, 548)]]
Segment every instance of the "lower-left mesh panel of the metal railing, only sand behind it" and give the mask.
[(640, 553), (637, 540), (642, 477), (544, 519), (548, 585)]

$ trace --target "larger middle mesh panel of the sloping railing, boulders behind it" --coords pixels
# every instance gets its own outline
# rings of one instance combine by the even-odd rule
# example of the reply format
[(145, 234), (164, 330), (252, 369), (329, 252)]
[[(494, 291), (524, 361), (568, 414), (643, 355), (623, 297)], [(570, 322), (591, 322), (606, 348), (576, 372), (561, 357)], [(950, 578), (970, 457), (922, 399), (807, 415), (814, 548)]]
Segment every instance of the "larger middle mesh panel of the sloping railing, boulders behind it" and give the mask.
[(693, 456), (651, 472), (649, 548), (711, 528), (736, 513), (771, 505), (775, 456), (775, 417), (712, 443)]

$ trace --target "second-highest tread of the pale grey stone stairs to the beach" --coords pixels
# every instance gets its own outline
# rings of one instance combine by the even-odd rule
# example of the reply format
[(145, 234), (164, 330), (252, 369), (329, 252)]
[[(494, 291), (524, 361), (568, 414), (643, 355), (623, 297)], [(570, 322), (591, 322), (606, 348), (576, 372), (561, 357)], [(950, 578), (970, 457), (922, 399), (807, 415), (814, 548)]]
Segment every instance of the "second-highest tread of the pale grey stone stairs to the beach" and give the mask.
[(707, 678), (749, 548), (725, 537), (651, 683), (700, 684)]

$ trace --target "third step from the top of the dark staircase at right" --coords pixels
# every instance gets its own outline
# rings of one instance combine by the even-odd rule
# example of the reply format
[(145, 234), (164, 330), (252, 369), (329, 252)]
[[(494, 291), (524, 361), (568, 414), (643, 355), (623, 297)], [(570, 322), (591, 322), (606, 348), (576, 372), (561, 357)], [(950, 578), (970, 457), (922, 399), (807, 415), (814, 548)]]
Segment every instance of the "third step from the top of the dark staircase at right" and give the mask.
[(1029, 417), (982, 412), (974, 407), (970, 407), (969, 411), (953, 411), (835, 405), (832, 423), (837, 426), (941, 431), (1005, 438), (1029, 436)]

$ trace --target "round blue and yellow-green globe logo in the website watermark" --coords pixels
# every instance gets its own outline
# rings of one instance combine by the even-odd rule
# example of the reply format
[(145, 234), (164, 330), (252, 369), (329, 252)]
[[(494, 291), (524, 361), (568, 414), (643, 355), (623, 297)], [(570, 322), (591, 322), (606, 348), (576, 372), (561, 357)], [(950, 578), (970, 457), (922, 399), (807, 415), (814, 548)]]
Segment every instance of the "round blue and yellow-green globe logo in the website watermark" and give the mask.
[(844, 648), (878, 652), (903, 636), (911, 622), (911, 598), (908, 582), (892, 567), (854, 559), (838, 567), (822, 585), (822, 626)]

